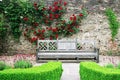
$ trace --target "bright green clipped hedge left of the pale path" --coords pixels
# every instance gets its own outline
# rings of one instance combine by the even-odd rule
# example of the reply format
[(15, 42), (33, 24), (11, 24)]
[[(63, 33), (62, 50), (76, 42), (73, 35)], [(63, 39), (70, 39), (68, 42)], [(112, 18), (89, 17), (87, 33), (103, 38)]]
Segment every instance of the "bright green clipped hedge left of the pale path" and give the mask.
[(0, 80), (60, 80), (62, 71), (62, 63), (48, 62), (33, 68), (0, 71)]

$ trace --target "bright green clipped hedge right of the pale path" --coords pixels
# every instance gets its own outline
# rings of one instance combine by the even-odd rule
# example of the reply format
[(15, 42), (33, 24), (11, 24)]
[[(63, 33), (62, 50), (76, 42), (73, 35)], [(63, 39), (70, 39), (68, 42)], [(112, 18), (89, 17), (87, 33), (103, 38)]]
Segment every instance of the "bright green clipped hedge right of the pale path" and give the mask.
[(120, 69), (105, 68), (95, 62), (80, 63), (81, 80), (120, 80)]

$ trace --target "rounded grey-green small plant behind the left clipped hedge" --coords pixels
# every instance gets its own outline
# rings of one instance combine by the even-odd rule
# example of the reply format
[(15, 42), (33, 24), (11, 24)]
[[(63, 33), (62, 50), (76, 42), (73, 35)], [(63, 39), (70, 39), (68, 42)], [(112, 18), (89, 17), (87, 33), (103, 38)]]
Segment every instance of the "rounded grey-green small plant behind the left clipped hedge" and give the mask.
[(26, 60), (18, 60), (14, 64), (15, 68), (30, 68), (32, 67), (32, 64), (29, 61)]

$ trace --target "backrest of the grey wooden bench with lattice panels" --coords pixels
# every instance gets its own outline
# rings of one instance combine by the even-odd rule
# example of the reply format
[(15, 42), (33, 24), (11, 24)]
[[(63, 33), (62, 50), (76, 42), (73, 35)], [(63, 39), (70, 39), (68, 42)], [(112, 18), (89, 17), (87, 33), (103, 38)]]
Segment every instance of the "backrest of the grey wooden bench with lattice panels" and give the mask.
[(95, 41), (90, 40), (38, 40), (40, 51), (93, 51)]

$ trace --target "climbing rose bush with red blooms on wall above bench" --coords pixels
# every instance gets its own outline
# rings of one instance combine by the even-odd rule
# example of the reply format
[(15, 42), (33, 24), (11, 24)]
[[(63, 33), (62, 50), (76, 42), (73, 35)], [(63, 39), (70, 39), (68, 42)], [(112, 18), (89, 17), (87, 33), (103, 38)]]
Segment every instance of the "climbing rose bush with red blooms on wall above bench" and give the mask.
[(67, 10), (67, 2), (55, 1), (51, 6), (44, 6), (34, 2), (29, 3), (27, 13), (22, 15), (23, 35), (31, 43), (38, 39), (55, 40), (61, 37), (71, 36), (79, 32), (79, 25), (84, 14), (73, 14), (64, 19)]

